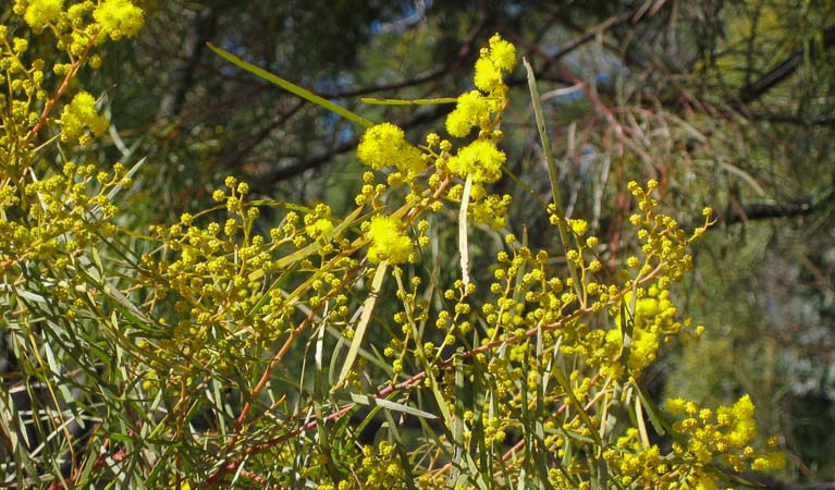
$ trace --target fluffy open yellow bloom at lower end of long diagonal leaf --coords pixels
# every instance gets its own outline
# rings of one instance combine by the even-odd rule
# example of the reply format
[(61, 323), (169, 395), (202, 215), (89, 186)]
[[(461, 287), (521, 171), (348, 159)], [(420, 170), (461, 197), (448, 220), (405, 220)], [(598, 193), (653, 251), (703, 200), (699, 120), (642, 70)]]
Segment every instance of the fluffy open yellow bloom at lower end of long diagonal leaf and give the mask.
[(403, 130), (391, 123), (377, 124), (363, 134), (357, 158), (374, 170), (394, 167), (407, 179), (426, 168), (420, 150), (406, 140)]

